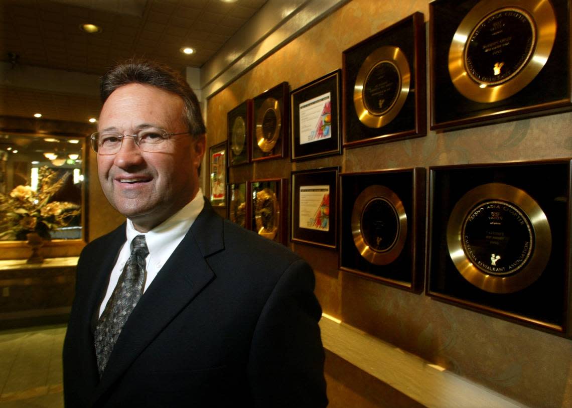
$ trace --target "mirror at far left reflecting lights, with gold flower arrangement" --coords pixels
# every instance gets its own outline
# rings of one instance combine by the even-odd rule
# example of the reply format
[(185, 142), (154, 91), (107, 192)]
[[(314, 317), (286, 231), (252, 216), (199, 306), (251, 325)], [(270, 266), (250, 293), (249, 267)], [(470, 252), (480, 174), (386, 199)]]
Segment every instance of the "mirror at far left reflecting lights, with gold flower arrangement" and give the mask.
[(0, 241), (82, 239), (80, 138), (0, 133)]

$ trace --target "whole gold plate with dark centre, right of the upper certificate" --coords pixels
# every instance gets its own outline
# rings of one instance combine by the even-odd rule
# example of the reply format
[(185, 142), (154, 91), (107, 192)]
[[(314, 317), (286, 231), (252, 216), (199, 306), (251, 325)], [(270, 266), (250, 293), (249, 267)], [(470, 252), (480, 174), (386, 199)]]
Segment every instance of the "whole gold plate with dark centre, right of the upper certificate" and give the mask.
[(411, 83), (407, 57), (398, 47), (383, 46), (363, 62), (353, 88), (359, 120), (381, 128), (394, 120), (405, 104)]

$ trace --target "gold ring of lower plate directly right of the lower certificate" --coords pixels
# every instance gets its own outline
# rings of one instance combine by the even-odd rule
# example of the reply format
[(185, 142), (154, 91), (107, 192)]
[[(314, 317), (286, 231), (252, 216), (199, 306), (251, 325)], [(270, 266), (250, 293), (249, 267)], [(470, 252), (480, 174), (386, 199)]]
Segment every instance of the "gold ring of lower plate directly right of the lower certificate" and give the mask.
[[(364, 225), (364, 213), (376, 201), (382, 201), (383, 205), (390, 207), (395, 217), (392, 220), (395, 221), (395, 236), (392, 237), (391, 243), (383, 245), (383, 249), (376, 249), (375, 244), (368, 240), (371, 237), (364, 234), (364, 228), (370, 227), (370, 225)], [(394, 262), (401, 253), (407, 238), (407, 214), (403, 203), (394, 191), (383, 185), (370, 185), (360, 193), (353, 203), (351, 226), (353, 243), (358, 248), (358, 252), (374, 265), (387, 265)], [(384, 228), (384, 226), (380, 225), (379, 228)]]

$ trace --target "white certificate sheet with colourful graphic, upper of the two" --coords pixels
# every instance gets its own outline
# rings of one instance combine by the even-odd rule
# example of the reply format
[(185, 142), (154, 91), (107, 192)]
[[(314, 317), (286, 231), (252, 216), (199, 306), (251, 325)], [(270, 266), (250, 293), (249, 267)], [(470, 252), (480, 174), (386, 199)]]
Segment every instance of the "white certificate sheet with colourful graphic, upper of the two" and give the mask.
[(332, 102), (324, 93), (300, 104), (300, 144), (332, 137)]

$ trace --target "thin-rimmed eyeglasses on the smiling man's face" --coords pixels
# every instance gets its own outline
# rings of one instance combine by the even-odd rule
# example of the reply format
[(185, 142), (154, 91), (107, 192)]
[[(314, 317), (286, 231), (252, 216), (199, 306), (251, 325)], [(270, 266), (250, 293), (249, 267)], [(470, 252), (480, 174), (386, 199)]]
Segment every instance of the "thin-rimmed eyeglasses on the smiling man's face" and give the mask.
[(121, 134), (119, 132), (96, 132), (89, 137), (92, 149), (98, 155), (114, 155), (121, 149), (126, 137), (133, 137), (133, 141), (142, 152), (160, 152), (168, 144), (169, 136), (189, 134), (189, 132), (169, 133), (164, 129), (147, 128), (136, 134)]

